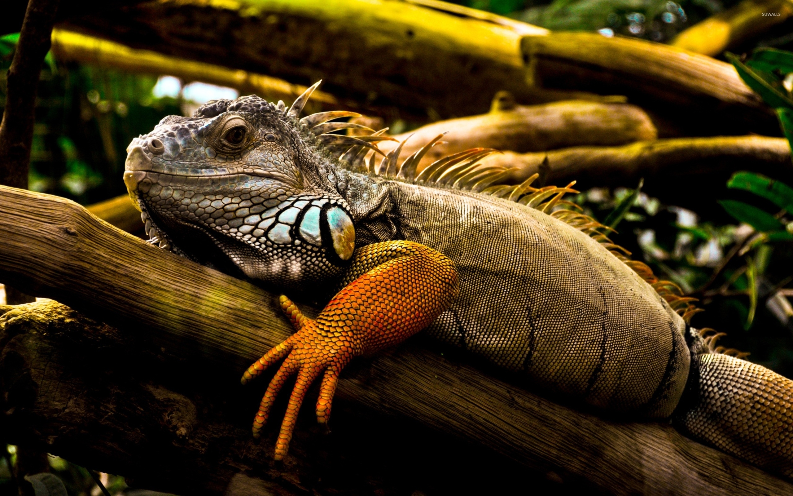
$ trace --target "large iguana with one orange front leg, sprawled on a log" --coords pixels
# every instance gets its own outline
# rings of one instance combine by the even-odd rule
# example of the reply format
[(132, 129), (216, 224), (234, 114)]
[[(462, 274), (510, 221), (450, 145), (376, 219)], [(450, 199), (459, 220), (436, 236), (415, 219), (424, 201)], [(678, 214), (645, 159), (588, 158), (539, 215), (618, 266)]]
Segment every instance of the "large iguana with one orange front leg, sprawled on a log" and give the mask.
[[(165, 117), (132, 140), (124, 174), (160, 247), (293, 294), (327, 301), (342, 288), (316, 320), (282, 296), (297, 333), (243, 376), (285, 358), (258, 436), (297, 373), (276, 459), (312, 381), (324, 373), (316, 415), (326, 422), (352, 357), (426, 328), (541, 388), (627, 418), (671, 418), (793, 476), (793, 382), (717, 352), (713, 335), (688, 325), (691, 298), (562, 199), (572, 184), (491, 186), (504, 172), (480, 166), (492, 152), (481, 148), (416, 173), (442, 136), (402, 163), (401, 146), (375, 160), (385, 130), (335, 121), (357, 114), (300, 118), (316, 86), (290, 108), (244, 96)], [(369, 134), (334, 133), (356, 128)]]

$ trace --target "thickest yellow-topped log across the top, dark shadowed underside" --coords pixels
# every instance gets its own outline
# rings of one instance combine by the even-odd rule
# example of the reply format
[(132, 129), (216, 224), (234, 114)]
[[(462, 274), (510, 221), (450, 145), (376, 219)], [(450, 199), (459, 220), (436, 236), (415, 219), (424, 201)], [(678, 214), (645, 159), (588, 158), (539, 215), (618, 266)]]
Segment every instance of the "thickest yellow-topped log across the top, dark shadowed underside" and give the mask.
[[(155, 50), (323, 89), (389, 121), (488, 110), (508, 90), (522, 103), (596, 99), (527, 85), (519, 39), (546, 29), (432, 0), (167, 0), (76, 14), (63, 25)], [(437, 117), (436, 117), (437, 118)]]

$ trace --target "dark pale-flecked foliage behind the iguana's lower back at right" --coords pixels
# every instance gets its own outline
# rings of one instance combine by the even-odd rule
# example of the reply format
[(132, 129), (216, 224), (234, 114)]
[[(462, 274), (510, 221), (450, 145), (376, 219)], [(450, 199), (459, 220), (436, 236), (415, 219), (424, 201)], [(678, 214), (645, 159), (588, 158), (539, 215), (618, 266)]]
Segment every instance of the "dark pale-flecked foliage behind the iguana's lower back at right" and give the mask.
[(573, 201), (606, 225), (617, 221), (615, 243), (700, 299), (708, 311), (695, 327), (730, 332), (730, 347), (791, 376), (793, 290), (784, 288), (793, 279), (793, 188), (753, 172), (737, 172), (727, 186), (734, 198), (719, 203), (735, 219), (728, 225), (700, 221), (638, 188), (594, 188)]

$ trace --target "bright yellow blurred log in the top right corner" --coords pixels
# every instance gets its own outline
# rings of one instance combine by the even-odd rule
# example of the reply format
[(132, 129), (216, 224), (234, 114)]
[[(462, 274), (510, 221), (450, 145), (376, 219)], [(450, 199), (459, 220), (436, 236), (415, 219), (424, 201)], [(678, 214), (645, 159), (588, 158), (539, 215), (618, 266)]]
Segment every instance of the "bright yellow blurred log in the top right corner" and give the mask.
[(793, 15), (789, 0), (743, 0), (723, 12), (685, 29), (672, 46), (707, 56), (718, 56), (761, 35)]

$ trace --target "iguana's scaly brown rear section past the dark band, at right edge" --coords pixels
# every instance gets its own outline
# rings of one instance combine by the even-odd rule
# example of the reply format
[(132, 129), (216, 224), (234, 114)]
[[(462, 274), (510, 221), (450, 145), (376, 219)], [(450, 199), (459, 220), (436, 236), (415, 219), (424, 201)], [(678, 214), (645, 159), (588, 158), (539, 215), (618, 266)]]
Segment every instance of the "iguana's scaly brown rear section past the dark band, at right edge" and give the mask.
[(793, 476), (793, 381), (774, 371), (734, 356), (694, 355), (672, 421), (695, 439)]

